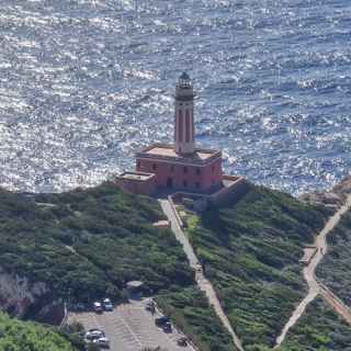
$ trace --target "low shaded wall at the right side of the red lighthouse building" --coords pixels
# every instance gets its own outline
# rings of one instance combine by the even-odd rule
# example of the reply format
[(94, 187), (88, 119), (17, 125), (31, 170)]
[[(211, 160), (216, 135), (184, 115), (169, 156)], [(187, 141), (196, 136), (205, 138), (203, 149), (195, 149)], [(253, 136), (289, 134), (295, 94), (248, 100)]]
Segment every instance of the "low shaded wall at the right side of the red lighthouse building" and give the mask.
[(223, 176), (223, 180), (230, 182), (230, 184), (212, 194), (208, 199), (216, 206), (238, 201), (248, 191), (249, 183), (244, 177)]

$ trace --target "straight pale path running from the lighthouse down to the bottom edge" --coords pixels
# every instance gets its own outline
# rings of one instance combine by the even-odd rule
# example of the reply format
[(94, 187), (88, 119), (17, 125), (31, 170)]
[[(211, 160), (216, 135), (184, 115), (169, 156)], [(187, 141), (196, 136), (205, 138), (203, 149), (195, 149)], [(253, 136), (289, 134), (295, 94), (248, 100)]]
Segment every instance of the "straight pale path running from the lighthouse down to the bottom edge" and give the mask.
[(213, 288), (213, 285), (211, 284), (211, 282), (204, 276), (203, 271), (199, 270), (200, 265), (200, 261), (197, 260), (195, 252), (192, 248), (192, 246), (190, 245), (188, 237), (185, 236), (184, 231), (182, 230), (182, 228), (180, 227), (180, 224), (176, 217), (172, 205), (169, 203), (168, 200), (165, 199), (160, 199), (159, 200), (162, 211), (165, 213), (165, 215), (168, 217), (168, 220), (171, 223), (171, 229), (174, 233), (177, 239), (182, 244), (183, 246), (183, 250), (188, 257), (189, 263), (190, 265), (195, 270), (196, 274), (195, 274), (195, 280), (196, 283), (200, 287), (200, 290), (202, 290), (203, 292), (205, 292), (207, 298), (208, 298), (208, 303), (210, 305), (212, 305), (217, 314), (217, 316), (219, 317), (219, 319), (222, 320), (223, 325), (227, 328), (228, 332), (230, 333), (233, 341), (235, 343), (235, 346), (240, 350), (244, 351), (242, 346), (241, 346), (241, 341), (238, 338), (238, 336), (235, 333), (226, 314), (224, 313), (219, 299), (215, 293), (215, 290)]

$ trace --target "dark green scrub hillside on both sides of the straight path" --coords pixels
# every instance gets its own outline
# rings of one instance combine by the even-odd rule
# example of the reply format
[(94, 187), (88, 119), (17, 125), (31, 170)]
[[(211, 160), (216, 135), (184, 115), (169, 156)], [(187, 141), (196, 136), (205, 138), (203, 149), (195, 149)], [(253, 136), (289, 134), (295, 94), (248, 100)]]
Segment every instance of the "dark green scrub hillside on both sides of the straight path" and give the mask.
[[(250, 185), (236, 204), (188, 218), (186, 234), (246, 350), (272, 347), (304, 296), (302, 248), (313, 242), (329, 214)], [(0, 272), (42, 282), (48, 299), (87, 303), (104, 295), (123, 299), (125, 282), (141, 280), (146, 293), (158, 295), (160, 306), (202, 350), (234, 350), (195, 287), (174, 235), (152, 227), (160, 218), (157, 201), (110, 183), (61, 194), (2, 190)], [(32, 307), (30, 317), (38, 310)]]

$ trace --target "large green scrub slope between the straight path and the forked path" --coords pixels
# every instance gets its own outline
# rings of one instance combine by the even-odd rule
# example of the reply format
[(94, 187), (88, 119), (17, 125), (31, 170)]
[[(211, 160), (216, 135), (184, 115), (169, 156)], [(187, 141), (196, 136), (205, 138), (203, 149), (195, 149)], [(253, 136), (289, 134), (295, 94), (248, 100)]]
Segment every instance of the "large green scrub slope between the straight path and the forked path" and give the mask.
[(189, 238), (246, 350), (274, 344), (306, 290), (302, 248), (328, 214), (251, 185), (236, 204), (191, 218)]

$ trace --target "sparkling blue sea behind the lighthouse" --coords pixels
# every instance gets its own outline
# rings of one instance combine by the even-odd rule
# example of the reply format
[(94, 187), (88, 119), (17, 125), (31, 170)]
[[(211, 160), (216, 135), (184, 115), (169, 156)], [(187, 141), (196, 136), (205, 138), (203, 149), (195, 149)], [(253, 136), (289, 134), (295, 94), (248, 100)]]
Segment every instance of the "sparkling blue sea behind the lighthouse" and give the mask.
[(351, 169), (350, 0), (0, 0), (0, 185), (91, 186), (173, 135), (293, 194)]

